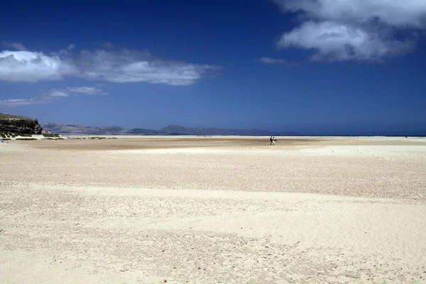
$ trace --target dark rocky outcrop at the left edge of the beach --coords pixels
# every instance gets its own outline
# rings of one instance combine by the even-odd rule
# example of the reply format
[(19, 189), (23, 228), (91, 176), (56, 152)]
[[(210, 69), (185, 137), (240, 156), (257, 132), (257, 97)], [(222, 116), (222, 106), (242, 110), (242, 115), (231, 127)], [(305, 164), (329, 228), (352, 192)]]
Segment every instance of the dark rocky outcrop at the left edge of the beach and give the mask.
[(43, 128), (37, 119), (26, 116), (0, 114), (0, 133), (40, 134)]

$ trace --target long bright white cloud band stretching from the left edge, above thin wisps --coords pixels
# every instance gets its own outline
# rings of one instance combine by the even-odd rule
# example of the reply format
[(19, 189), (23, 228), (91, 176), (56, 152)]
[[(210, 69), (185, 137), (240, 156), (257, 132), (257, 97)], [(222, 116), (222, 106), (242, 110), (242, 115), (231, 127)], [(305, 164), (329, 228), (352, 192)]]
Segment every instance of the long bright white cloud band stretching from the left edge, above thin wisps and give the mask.
[(107, 82), (149, 82), (153, 84), (190, 85), (207, 72), (219, 69), (214, 65), (199, 65), (154, 58), (146, 51), (82, 50), (72, 57), (69, 51), (45, 55), (41, 52), (0, 52), (0, 80), (37, 82), (81, 77)]

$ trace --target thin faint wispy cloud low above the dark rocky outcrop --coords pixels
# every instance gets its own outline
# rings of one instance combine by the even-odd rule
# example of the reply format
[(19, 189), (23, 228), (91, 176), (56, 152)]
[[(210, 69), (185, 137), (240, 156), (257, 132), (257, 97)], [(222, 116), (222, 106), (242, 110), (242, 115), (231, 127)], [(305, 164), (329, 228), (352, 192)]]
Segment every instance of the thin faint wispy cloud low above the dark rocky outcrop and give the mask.
[(5, 99), (0, 100), (0, 107), (21, 107), (29, 104), (42, 104), (53, 102), (55, 99), (63, 99), (78, 95), (108, 95), (103, 89), (96, 87), (67, 87), (65, 89), (49, 89), (47, 92), (31, 99)]

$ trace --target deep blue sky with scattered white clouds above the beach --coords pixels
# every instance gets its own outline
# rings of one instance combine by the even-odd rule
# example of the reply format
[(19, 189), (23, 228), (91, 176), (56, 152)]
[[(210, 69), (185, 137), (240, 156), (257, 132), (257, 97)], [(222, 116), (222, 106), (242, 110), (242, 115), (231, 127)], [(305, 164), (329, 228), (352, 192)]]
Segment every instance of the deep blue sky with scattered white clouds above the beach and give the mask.
[(3, 113), (426, 135), (426, 1), (2, 5)]

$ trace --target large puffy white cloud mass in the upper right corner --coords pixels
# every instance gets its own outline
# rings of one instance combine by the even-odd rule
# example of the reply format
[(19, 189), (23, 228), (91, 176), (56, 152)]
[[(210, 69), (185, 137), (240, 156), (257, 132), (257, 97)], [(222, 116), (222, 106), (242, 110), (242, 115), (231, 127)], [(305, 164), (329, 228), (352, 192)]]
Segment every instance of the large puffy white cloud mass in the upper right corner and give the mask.
[(308, 19), (284, 33), (278, 48), (315, 50), (313, 60), (383, 60), (408, 53), (415, 48), (412, 32), (426, 28), (424, 0), (274, 1)]

